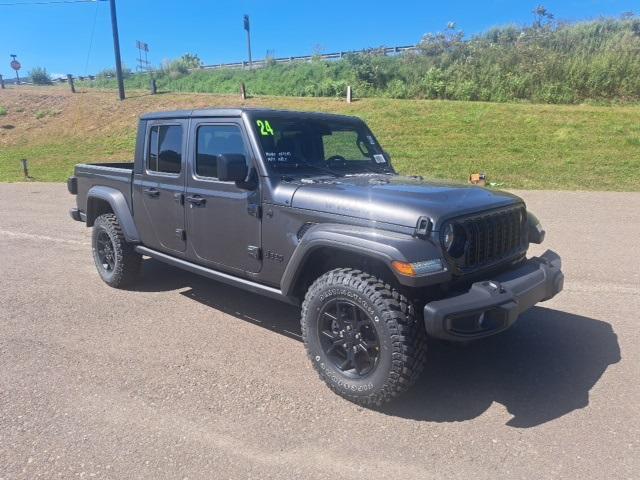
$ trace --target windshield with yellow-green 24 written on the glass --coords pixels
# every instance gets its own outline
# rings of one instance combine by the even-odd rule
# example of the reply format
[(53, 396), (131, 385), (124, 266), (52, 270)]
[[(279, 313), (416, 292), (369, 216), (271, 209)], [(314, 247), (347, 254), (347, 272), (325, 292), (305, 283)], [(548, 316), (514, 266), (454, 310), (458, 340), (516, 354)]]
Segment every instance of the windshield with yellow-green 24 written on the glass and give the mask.
[(341, 176), (393, 171), (374, 136), (357, 120), (267, 114), (252, 123), (270, 173)]

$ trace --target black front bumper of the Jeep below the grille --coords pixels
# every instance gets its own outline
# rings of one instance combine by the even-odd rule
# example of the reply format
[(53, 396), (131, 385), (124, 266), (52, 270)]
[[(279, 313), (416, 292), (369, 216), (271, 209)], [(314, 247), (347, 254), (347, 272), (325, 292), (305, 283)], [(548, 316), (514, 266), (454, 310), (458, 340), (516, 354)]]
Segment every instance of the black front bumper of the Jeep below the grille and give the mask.
[(474, 283), (461, 295), (424, 307), (427, 333), (446, 340), (487, 337), (509, 328), (525, 310), (562, 290), (560, 256), (547, 250), (495, 279)]

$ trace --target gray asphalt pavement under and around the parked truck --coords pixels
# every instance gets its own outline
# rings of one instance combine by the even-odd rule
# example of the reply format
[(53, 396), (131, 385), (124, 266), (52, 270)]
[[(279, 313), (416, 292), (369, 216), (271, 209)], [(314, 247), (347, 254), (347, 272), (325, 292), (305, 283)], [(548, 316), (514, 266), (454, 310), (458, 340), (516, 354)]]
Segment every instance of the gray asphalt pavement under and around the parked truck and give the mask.
[(64, 185), (0, 185), (0, 479), (638, 478), (640, 194), (519, 193), (565, 291), (374, 411), (295, 308), (151, 260), (110, 289)]

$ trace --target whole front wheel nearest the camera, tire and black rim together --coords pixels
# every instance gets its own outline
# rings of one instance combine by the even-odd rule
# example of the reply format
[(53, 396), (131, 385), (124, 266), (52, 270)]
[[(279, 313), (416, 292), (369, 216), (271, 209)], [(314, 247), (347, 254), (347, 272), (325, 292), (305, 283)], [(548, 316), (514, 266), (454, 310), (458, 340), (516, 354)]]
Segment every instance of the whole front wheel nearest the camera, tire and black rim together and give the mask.
[(425, 362), (425, 330), (399, 292), (359, 270), (318, 278), (302, 305), (302, 336), (320, 378), (361, 405), (407, 390)]

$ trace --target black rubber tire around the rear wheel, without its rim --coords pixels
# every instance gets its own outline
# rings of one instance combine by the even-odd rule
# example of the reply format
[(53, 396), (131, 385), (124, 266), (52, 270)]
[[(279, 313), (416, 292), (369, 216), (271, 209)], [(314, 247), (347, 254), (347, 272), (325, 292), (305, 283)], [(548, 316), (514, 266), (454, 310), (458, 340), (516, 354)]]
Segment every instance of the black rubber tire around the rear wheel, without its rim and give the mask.
[[(114, 265), (110, 271), (103, 267), (98, 255), (97, 243), (101, 232), (109, 236), (113, 246)], [(96, 218), (91, 235), (91, 247), (98, 274), (107, 285), (126, 288), (138, 278), (142, 256), (125, 240), (122, 227), (113, 213), (105, 213)]]

